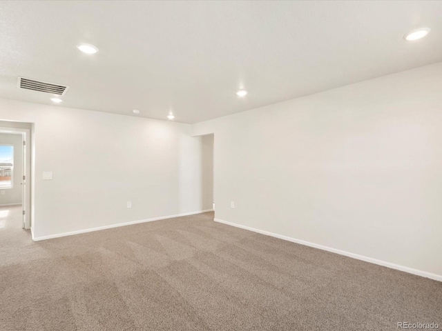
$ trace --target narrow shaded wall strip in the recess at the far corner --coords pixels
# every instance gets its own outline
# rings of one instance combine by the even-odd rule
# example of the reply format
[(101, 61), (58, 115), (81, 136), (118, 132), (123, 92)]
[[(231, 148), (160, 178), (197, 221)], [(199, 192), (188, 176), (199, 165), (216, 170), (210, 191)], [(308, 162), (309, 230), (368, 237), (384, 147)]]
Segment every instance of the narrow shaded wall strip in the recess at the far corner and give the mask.
[(202, 148), (202, 206), (213, 208), (213, 134), (201, 137)]

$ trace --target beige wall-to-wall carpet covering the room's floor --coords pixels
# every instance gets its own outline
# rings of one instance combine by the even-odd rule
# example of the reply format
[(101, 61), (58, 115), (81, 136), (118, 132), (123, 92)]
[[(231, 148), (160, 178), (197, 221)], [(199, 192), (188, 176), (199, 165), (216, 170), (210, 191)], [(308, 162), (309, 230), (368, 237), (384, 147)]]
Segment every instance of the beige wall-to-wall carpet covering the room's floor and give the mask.
[(34, 243), (17, 211), (0, 214), (1, 331), (442, 328), (442, 283), (212, 213)]

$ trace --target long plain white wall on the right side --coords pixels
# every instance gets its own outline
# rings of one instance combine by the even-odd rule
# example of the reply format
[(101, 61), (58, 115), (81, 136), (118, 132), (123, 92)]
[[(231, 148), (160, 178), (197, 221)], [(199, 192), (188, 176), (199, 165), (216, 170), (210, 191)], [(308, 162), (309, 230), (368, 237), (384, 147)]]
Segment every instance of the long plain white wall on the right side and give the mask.
[(215, 218), (442, 275), (441, 91), (436, 63), (193, 125)]

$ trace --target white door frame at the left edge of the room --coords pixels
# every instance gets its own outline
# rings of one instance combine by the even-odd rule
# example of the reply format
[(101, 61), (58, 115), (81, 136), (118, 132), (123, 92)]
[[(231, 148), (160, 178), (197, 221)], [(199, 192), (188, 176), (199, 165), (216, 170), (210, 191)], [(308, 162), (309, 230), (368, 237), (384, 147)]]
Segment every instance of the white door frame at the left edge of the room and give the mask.
[[(22, 129), (22, 128), (5, 128), (0, 127), (0, 133), (6, 134), (21, 134), (21, 141), (23, 141), (23, 164), (21, 165), (23, 169), (24, 179), (21, 179), (21, 188), (22, 193), (22, 201), (21, 208), (23, 210), (23, 222), (22, 228), (30, 229), (32, 220), (32, 197), (31, 197), (31, 166), (32, 166), (32, 155), (31, 155), (31, 132), (30, 129)], [(18, 183), (16, 183), (17, 185)], [(32, 224), (33, 225), (33, 224)]]

